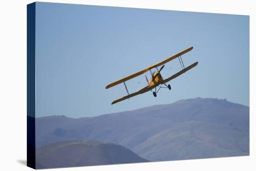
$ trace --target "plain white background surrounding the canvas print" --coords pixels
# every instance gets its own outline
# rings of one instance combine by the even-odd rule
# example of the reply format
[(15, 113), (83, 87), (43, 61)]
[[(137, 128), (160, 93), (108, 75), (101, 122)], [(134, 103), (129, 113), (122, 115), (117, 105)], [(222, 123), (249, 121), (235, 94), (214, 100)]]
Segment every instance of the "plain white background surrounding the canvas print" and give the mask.
[[(176, 11), (194, 11), (207, 13), (230, 13), (250, 15), (250, 156), (233, 158), (212, 158), (181, 160), (170, 162), (152, 162), (145, 164), (118, 164), (108, 166), (90, 166), (76, 168), (49, 169), (61, 171), (169, 171), (169, 170), (253, 170), (255, 157), (255, 33), (256, 14), (253, 1), (241, 0), (44, 0), (72, 4), (103, 5), (115, 7), (137, 7), (166, 9)], [(12, 0), (0, 2), (0, 158), (1, 170), (32, 170), (26, 166), (27, 144), (27, 4), (32, 0)], [(239, 80), (237, 80), (239, 81)]]

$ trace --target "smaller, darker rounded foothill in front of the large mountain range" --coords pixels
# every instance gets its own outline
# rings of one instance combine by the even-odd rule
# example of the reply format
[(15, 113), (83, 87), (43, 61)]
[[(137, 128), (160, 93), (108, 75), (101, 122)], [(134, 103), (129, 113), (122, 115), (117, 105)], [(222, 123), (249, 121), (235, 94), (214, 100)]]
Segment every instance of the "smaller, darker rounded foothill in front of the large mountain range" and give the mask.
[(99, 141), (66, 141), (36, 150), (36, 168), (148, 162), (131, 150)]

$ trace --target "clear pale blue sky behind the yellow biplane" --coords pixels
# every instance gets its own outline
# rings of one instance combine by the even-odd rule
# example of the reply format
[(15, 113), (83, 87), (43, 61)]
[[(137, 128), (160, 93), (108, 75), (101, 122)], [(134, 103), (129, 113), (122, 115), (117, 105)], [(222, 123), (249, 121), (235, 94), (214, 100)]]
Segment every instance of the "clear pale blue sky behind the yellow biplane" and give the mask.
[[(36, 117), (91, 117), (196, 97), (249, 106), (249, 16), (37, 2), (35, 43)], [(171, 91), (111, 105), (127, 92), (106, 85), (189, 46), (185, 66), (199, 64), (170, 81)], [(175, 59), (162, 77), (180, 69)], [(146, 85), (144, 75), (127, 81), (129, 92)]]

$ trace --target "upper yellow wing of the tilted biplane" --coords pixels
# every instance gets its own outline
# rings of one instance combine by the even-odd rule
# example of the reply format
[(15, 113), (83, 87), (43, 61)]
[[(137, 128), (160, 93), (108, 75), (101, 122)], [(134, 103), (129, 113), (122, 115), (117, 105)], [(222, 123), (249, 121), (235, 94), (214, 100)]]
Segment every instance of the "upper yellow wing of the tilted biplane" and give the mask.
[(140, 72), (136, 72), (136, 73), (134, 73), (134, 74), (132, 74), (132, 75), (129, 75), (128, 77), (125, 77), (125, 78), (123, 78), (123, 79), (119, 79), (119, 80), (117, 80), (117, 81), (115, 81), (115, 82), (113, 82), (113, 83), (110, 83), (109, 85), (106, 86), (106, 89), (108, 89), (108, 88), (110, 88), (110, 87), (113, 87), (113, 86), (115, 86), (115, 85), (118, 85), (118, 84), (120, 84), (120, 83), (122, 83), (122, 82), (125, 82), (125, 81), (127, 81), (127, 80), (129, 80), (129, 79), (133, 79), (133, 78), (135, 78), (135, 77), (137, 77), (137, 76), (139, 76), (139, 75), (141, 75), (141, 74), (143, 74), (143, 73), (145, 73), (145, 72), (148, 72), (148, 71), (149, 71), (150, 69), (152, 69), (152, 68), (155, 68), (155, 67), (157, 67), (157, 66), (162, 66), (163, 64), (165, 64), (165, 63), (167, 63), (167, 62), (169, 62), (169, 61), (171, 61), (171, 60), (173, 60), (173, 59), (175, 59), (175, 58), (178, 58), (179, 56), (181, 56), (181, 55), (183, 55), (183, 54), (185, 54), (185, 53), (191, 51), (192, 49), (193, 49), (193, 47), (189, 47), (188, 49), (185, 49), (185, 50), (183, 50), (182, 52), (177, 53), (177, 54), (175, 54), (174, 56), (172, 56), (172, 57), (170, 57), (170, 58), (168, 58), (168, 59), (163, 60), (162, 62), (159, 62), (158, 64), (149, 66), (148, 68), (143, 69), (143, 70), (141, 70)]

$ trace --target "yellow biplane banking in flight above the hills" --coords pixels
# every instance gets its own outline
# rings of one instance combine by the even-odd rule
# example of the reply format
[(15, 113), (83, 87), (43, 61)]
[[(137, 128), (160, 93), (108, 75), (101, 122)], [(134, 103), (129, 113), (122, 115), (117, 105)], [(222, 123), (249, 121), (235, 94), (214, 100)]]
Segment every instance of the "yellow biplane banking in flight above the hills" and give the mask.
[[(169, 81), (172, 80), (172, 79), (175, 79), (176, 77), (178, 77), (178, 76), (181, 75), (182, 73), (184, 73), (184, 72), (186, 72), (186, 71), (189, 71), (191, 68), (195, 67), (195, 66), (198, 64), (198, 62), (195, 62), (194, 64), (192, 64), (192, 65), (190, 65), (190, 66), (188, 66), (188, 67), (186, 67), (186, 68), (184, 67), (184, 64), (183, 64), (183, 61), (182, 61), (182, 55), (185, 54), (185, 53), (187, 53), (187, 52), (189, 52), (189, 51), (191, 51), (192, 49), (193, 49), (193, 46), (192, 46), (192, 47), (189, 47), (188, 49), (183, 50), (183, 51), (180, 52), (180, 53), (175, 54), (175, 55), (172, 56), (172, 57), (169, 57), (168, 59), (163, 60), (162, 62), (159, 62), (158, 64), (151, 65), (151, 66), (149, 66), (148, 68), (141, 70), (140, 72), (136, 72), (136, 73), (134, 73), (134, 74), (132, 74), (132, 75), (129, 75), (128, 77), (125, 77), (125, 78), (123, 78), (123, 79), (117, 80), (117, 81), (115, 81), (115, 82), (110, 83), (109, 85), (107, 85), (107, 86), (106, 86), (106, 89), (108, 89), (108, 88), (110, 88), (110, 87), (113, 87), (113, 86), (115, 86), (115, 85), (124, 83), (125, 89), (126, 89), (126, 91), (127, 91), (127, 93), (128, 93), (127, 96), (124, 96), (124, 97), (122, 97), (122, 98), (119, 98), (119, 99), (116, 99), (115, 101), (113, 101), (113, 102), (112, 102), (112, 105), (115, 104), (115, 103), (118, 103), (118, 102), (120, 102), (120, 101), (122, 101), (122, 100), (129, 99), (129, 98), (131, 98), (131, 97), (134, 97), (134, 96), (136, 96), (136, 95), (138, 95), (138, 94), (142, 94), (142, 93), (144, 93), (144, 92), (151, 91), (151, 92), (153, 92), (153, 95), (156, 97), (156, 93), (157, 93), (161, 88), (168, 88), (169, 90), (171, 90), (171, 86), (170, 86), (170, 85), (166, 85), (167, 82), (169, 82)], [(179, 59), (180, 64), (181, 64), (181, 66), (182, 66), (182, 70), (181, 70), (180, 72), (175, 73), (174, 75), (172, 75), (172, 76), (169, 77), (168, 79), (163, 79), (163, 78), (162, 78), (162, 75), (160, 74), (160, 72), (162, 71), (162, 69), (163, 69), (163, 67), (164, 67), (164, 64), (167, 63), (167, 62), (169, 62), (169, 61), (171, 61), (171, 60), (173, 60), (173, 59), (175, 59), (175, 58), (178, 58), (178, 59)], [(161, 68), (158, 70), (158, 67), (159, 67), (159, 66), (161, 66)], [(152, 72), (152, 71), (151, 71), (151, 69), (153, 69), (153, 68), (156, 68), (156, 71), (155, 71), (155, 72)], [(148, 86), (142, 88), (142, 89), (139, 90), (138, 92), (134, 92), (134, 93), (132, 93), (132, 94), (129, 94), (128, 89), (127, 89), (127, 86), (126, 86), (126, 84), (125, 84), (125, 81), (127, 81), (127, 80), (129, 80), (129, 79), (133, 79), (133, 78), (135, 78), (135, 77), (137, 77), (137, 76), (139, 76), (139, 75), (141, 75), (141, 74), (143, 74), (143, 73), (145, 73), (145, 72), (148, 72), (148, 71), (150, 72), (150, 75), (151, 75), (150, 81), (148, 81), (148, 78), (147, 78), (147, 76), (145, 75), (145, 76), (146, 76), (146, 80), (147, 80), (147, 82), (148, 82)], [(161, 85), (165, 85), (165, 87), (162, 87)], [(157, 87), (157, 86), (159, 87), (159, 89), (156, 91), (156, 87)], [(153, 89), (155, 89), (155, 91), (152, 91)]]

